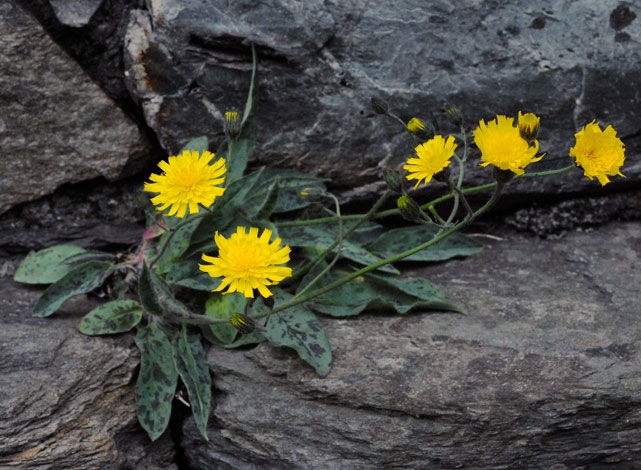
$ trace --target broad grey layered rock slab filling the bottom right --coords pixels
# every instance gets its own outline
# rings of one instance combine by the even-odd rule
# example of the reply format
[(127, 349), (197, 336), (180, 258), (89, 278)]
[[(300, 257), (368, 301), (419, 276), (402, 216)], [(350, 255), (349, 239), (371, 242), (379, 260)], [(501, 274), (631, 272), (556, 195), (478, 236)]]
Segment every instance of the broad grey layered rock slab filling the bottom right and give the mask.
[(507, 232), (407, 271), (467, 315), (326, 319), (324, 379), (286, 350), (212, 349), (210, 442), (190, 468), (638, 468), (641, 224)]

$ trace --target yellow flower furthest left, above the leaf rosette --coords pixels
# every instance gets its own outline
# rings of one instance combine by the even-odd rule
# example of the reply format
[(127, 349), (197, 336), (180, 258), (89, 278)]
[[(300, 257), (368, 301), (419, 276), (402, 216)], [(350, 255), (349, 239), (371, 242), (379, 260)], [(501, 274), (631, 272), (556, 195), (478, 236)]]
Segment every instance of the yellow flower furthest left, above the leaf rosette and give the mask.
[(163, 211), (171, 206), (166, 215), (184, 217), (189, 208), (190, 214), (198, 212), (198, 204), (209, 207), (214, 199), (225, 192), (218, 187), (225, 181), (225, 160), (219, 158), (213, 165), (209, 162), (214, 154), (204, 151), (184, 150), (177, 157), (169, 157), (168, 162), (161, 161), (158, 166), (161, 175), (152, 173), (151, 183), (145, 183), (145, 191), (158, 193), (151, 199), (152, 204)]

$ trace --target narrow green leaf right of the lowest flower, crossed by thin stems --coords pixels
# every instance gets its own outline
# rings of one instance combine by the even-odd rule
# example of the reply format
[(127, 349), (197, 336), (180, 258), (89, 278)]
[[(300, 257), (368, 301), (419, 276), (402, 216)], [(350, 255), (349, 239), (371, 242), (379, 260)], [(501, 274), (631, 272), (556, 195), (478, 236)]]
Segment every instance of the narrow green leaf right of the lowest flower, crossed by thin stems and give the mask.
[[(338, 229), (330, 231), (329, 227), (325, 224), (298, 225), (292, 227), (280, 227), (279, 234), (283, 241), (290, 246), (326, 248), (336, 240), (336, 237), (338, 236)], [(336, 250), (337, 247), (334, 248), (332, 252), (335, 253)], [(373, 253), (370, 253), (365, 248), (350, 242), (349, 240), (343, 241), (341, 256), (365, 266), (383, 259)], [(400, 274), (398, 269), (389, 264), (381, 266), (378, 270), (391, 274)]]

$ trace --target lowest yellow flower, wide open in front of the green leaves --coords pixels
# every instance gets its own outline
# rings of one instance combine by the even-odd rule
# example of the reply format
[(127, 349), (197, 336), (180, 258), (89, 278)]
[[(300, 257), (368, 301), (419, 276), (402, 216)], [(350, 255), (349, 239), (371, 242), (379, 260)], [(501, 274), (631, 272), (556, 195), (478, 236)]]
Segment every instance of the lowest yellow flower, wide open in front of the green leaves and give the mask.
[(237, 227), (236, 233), (225, 238), (216, 232), (215, 240), (218, 246), (218, 256), (203, 254), (203, 261), (211, 265), (199, 265), (200, 270), (211, 277), (222, 277), (222, 282), (213, 292), (221, 291), (229, 286), (225, 294), (240, 292), (245, 297), (254, 297), (254, 289), (263, 297), (272, 293), (266, 286), (278, 284), (286, 277), (291, 277), (292, 269), (276, 266), (289, 261), (291, 249), (285, 245), (280, 247), (280, 238), (272, 243), (269, 239), (272, 231), (264, 229), (258, 237), (258, 229), (251, 227), (249, 233), (245, 227)]

